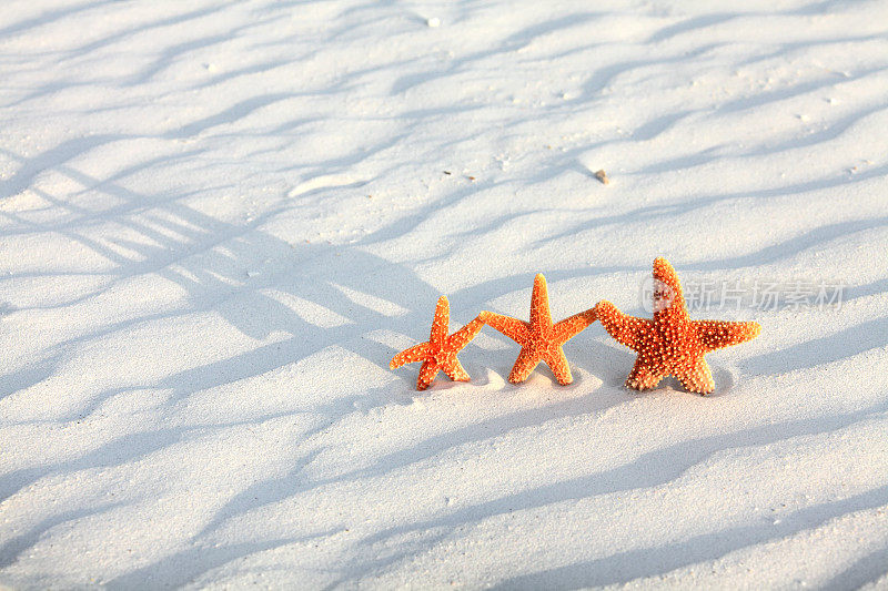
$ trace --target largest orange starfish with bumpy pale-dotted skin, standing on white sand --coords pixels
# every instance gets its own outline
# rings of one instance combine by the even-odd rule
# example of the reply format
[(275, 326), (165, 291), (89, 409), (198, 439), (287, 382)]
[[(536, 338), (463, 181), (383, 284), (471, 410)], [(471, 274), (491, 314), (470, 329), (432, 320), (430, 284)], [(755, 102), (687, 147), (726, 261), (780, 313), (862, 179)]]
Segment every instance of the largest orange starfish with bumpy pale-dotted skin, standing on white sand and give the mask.
[(595, 309), (604, 329), (638, 353), (626, 379), (626, 387), (636, 390), (653, 388), (673, 375), (688, 390), (708, 394), (715, 381), (704, 355), (755, 338), (761, 332), (758, 323), (692, 320), (682, 284), (665, 258), (654, 261), (653, 320), (627, 316), (609, 302), (599, 302)]

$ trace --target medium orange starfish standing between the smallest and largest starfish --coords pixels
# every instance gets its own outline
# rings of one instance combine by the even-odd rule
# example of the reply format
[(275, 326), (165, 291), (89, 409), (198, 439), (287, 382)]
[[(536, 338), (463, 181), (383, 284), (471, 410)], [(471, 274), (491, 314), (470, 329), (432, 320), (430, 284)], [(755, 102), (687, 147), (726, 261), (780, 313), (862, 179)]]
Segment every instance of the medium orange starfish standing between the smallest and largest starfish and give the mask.
[(521, 345), (518, 358), (508, 375), (512, 384), (527, 379), (542, 360), (552, 368), (558, 384), (567, 385), (574, 378), (562, 345), (595, 322), (595, 309), (589, 308), (553, 325), (548, 310), (546, 278), (541, 273), (534, 279), (529, 323), (493, 312), (482, 312), (478, 318)]

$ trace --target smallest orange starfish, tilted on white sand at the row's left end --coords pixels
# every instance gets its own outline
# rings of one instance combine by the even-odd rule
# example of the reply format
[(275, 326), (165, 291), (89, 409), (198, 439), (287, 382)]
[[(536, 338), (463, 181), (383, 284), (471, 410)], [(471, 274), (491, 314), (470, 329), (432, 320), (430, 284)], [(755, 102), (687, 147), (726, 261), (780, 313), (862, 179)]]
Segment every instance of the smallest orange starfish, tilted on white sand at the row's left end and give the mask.
[(443, 370), (454, 381), (468, 381), (468, 374), (460, 364), (456, 354), (475, 338), (484, 323), (475, 318), (467, 325), (447, 336), (451, 324), (451, 305), (446, 296), (441, 296), (432, 318), (432, 334), (426, 343), (402, 350), (392, 358), (392, 369), (404, 364), (422, 361), (416, 389), (426, 389), (435, 379), (438, 370)]

